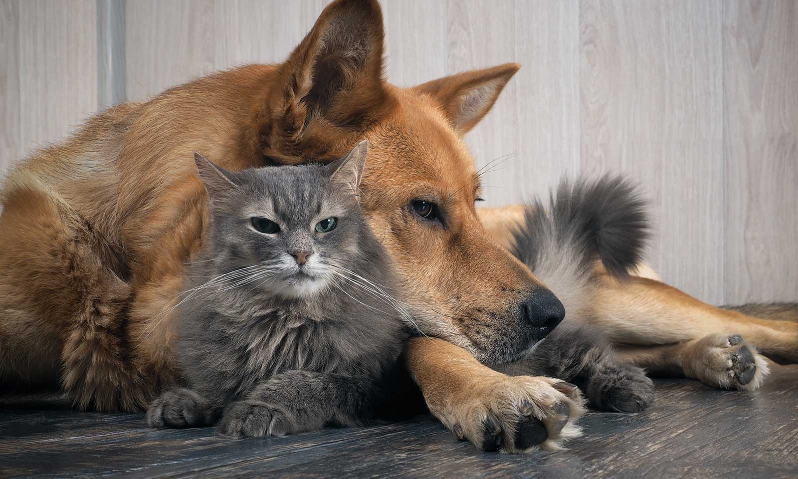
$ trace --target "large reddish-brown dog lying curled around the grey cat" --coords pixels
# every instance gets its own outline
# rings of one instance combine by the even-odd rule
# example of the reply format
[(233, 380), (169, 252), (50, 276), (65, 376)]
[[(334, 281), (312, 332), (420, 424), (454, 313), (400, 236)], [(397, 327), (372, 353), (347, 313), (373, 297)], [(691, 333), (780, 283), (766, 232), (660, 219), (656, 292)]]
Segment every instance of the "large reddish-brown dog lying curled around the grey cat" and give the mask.
[[(407, 350), (430, 410), (483, 449), (540, 442), (525, 438), (540, 432), (528, 432), (530, 418), (543, 421), (544, 438), (566, 437), (557, 424), (563, 405), (578, 413), (572, 386), (480, 364), (535, 372), (524, 360), (559, 304), (501, 246), (519, 246), (514, 232), (529, 226), (524, 209), (486, 211), (480, 220), (479, 175), (460, 140), (518, 65), (399, 89), (381, 76), (382, 42), (377, 2), (334, 2), (285, 63), (120, 105), (19, 164), (0, 196), (0, 379), (60, 384), (81, 408), (143, 409), (175, 381), (169, 311), (207, 219), (192, 152), (235, 170), (334, 160), (366, 138), (373, 148), (364, 212), (399, 267), (406, 300), (427, 312), (419, 327), (433, 336)], [(418, 201), (432, 206), (422, 214)], [(735, 369), (727, 362), (740, 351), (751, 361), (758, 355), (737, 334), (764, 354), (798, 361), (798, 323), (710, 307), (650, 279), (642, 265), (626, 280), (612, 272), (596, 266), (589, 291), (549, 286), (568, 311), (569, 296), (583, 294), (569, 320), (624, 345), (627, 362), (747, 387), (754, 383), (729, 381)], [(792, 306), (774, 316), (798, 318)], [(601, 364), (621, 366), (599, 349)], [(630, 410), (606, 401), (638, 387), (640, 375), (591, 400)], [(587, 387), (591, 378), (575, 381)]]

